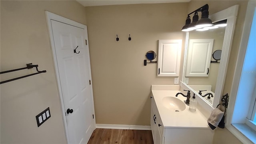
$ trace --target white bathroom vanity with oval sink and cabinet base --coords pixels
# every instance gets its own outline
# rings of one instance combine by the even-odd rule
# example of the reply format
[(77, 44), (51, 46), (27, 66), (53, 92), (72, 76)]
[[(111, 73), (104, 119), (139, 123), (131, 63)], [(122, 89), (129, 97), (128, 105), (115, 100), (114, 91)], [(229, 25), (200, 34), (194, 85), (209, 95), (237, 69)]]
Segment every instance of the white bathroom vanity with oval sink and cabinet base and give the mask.
[(177, 85), (152, 85), (150, 124), (154, 144), (212, 144), (214, 132), (207, 118), (184, 103), (186, 97), (175, 95)]

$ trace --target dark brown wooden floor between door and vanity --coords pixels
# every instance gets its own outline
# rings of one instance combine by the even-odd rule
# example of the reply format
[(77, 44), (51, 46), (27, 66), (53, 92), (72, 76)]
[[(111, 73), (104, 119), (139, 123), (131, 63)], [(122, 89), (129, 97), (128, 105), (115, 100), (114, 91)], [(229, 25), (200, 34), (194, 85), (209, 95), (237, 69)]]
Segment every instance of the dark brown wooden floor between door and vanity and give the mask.
[(153, 144), (151, 130), (96, 128), (88, 144)]

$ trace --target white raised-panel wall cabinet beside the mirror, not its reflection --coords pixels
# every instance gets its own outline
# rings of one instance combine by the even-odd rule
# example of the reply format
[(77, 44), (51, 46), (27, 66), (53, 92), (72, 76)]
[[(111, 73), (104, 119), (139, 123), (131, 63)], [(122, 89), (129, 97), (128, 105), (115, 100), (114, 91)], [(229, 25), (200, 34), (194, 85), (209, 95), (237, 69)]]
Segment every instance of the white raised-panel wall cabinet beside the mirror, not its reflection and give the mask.
[(157, 76), (179, 76), (182, 40), (158, 41)]

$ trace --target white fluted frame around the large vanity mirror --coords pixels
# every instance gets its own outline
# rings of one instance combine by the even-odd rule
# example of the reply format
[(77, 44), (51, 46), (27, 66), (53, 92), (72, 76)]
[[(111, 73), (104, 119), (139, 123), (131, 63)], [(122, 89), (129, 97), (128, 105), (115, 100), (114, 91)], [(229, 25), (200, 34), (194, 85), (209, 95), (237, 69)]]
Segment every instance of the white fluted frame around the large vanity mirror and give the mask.
[(220, 67), (219, 67), (219, 71), (218, 71), (218, 78), (217, 78), (217, 82), (216, 82), (214, 101), (213, 101), (212, 105), (210, 105), (208, 102), (206, 102), (206, 100), (204, 98), (202, 98), (198, 93), (196, 93), (192, 88), (190, 88), (190, 86), (188, 86), (187, 84), (184, 83), (189, 32), (186, 33), (184, 68), (183, 68), (181, 86), (183, 88), (190, 89), (192, 92), (194, 92), (196, 94), (196, 96), (198, 97), (197, 98), (198, 103), (200, 103), (202, 108), (205, 108), (205, 110), (207, 112), (211, 112), (212, 109), (216, 108), (216, 106), (220, 102), (220, 98), (221, 98), (221, 94), (222, 94), (222, 91), (224, 88), (224, 83), (225, 83), (225, 78), (226, 78), (228, 60), (229, 60), (229, 55), (230, 55), (231, 46), (232, 46), (232, 40), (233, 40), (233, 36), (234, 36), (238, 7), (239, 7), (238, 5), (234, 5), (225, 10), (216, 12), (215, 14), (212, 14), (209, 16), (209, 18), (212, 20), (212, 22), (218, 22), (218, 21), (227, 19), (227, 26), (225, 29), (223, 46), (222, 46), (222, 54), (221, 54), (221, 58), (220, 58)]

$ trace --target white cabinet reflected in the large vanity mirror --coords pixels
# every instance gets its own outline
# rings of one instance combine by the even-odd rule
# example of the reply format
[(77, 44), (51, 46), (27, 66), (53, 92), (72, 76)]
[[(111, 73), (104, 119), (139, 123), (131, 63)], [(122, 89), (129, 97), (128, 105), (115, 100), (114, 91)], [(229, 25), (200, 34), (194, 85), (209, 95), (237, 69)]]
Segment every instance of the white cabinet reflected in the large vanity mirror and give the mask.
[(186, 76), (208, 76), (214, 39), (190, 39)]

